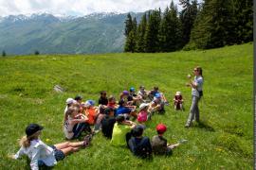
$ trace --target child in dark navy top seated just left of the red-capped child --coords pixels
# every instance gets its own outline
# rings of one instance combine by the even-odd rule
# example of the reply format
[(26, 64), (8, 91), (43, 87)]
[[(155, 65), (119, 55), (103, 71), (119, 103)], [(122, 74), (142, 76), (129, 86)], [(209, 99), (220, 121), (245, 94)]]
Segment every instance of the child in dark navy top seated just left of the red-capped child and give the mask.
[(148, 137), (143, 137), (143, 127), (137, 125), (132, 130), (133, 137), (129, 140), (129, 148), (139, 158), (151, 158), (152, 146)]

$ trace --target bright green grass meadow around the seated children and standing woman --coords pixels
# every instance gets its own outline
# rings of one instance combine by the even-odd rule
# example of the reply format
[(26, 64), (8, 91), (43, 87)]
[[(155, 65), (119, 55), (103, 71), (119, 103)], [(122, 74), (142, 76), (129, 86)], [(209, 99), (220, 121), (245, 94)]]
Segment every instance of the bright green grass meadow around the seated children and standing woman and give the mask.
[[(181, 91), (185, 111), (166, 107), (147, 124), (168, 126), (170, 143), (187, 139), (172, 157), (153, 161), (135, 158), (128, 149), (114, 147), (98, 133), (91, 147), (68, 156), (55, 169), (252, 169), (253, 168), (253, 45), (235, 45), (206, 51), (162, 54), (102, 54), (80, 56), (22, 56), (0, 59), (0, 169), (29, 168), (27, 160), (9, 160), (29, 123), (45, 127), (46, 144), (64, 141), (62, 121), (67, 97), (82, 94), (98, 100), (101, 90), (118, 97), (130, 87), (158, 85), (172, 102)], [(194, 66), (203, 68), (204, 97), (200, 102), (202, 125), (185, 128), (191, 89), (185, 86)], [(64, 87), (55, 93), (54, 85)]]

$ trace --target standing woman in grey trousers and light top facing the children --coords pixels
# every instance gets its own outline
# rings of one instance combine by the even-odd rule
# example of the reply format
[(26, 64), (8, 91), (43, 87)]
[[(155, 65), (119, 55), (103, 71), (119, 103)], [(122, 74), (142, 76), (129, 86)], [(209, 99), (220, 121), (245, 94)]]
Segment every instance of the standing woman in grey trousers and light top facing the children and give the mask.
[[(194, 78), (190, 83), (187, 83), (187, 86), (192, 87), (192, 106), (190, 114), (187, 120), (185, 127), (191, 127), (192, 120), (195, 119), (196, 122), (199, 122), (199, 109), (198, 102), (203, 96), (203, 70), (201, 67), (197, 66), (193, 69)], [(191, 76), (188, 76), (191, 78)]]

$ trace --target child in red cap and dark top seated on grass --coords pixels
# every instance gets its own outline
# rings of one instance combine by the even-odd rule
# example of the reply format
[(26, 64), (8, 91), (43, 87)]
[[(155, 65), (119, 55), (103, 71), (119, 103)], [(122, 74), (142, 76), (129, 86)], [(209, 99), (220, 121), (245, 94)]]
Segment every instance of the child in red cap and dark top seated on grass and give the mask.
[(174, 147), (179, 144), (167, 144), (167, 140), (163, 137), (167, 127), (164, 124), (158, 124), (156, 131), (158, 135), (152, 138), (152, 149), (156, 155), (171, 155)]

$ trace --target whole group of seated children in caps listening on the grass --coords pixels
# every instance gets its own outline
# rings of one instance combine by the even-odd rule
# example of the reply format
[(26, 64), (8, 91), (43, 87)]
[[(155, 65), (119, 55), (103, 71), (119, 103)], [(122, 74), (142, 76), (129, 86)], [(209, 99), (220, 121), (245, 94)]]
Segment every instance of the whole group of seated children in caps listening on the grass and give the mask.
[[(152, 152), (171, 153), (178, 144), (167, 144), (167, 140), (163, 138), (165, 125), (157, 125), (158, 135), (154, 136), (152, 141), (142, 136), (144, 123), (151, 119), (153, 113), (165, 111), (164, 106), (169, 105), (167, 99), (158, 91), (158, 87), (146, 91), (144, 86), (140, 86), (139, 91), (135, 92), (135, 88), (130, 88), (129, 92), (123, 91), (117, 103), (113, 95), (107, 97), (106, 92), (102, 91), (98, 107), (93, 100), (82, 102), (80, 95), (74, 99), (67, 98), (64, 109), (64, 136), (67, 140), (81, 139), (82, 132), (86, 132), (83, 141), (47, 146), (39, 139), (43, 127), (31, 124), (26, 128), (27, 136), (21, 140), (21, 149), (11, 158), (17, 159), (26, 154), (31, 160), (31, 169), (38, 169), (39, 165), (53, 166), (57, 161), (63, 160), (65, 155), (88, 146), (92, 136), (99, 130), (103, 136), (111, 140), (110, 144), (127, 145), (134, 155), (141, 158), (150, 158)], [(182, 102), (182, 96), (175, 97), (175, 109), (182, 109)], [(130, 121), (132, 117), (137, 119), (140, 125)], [(91, 129), (91, 126), (94, 126), (94, 129)]]

